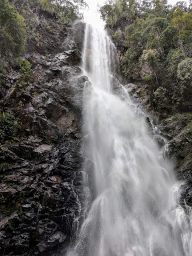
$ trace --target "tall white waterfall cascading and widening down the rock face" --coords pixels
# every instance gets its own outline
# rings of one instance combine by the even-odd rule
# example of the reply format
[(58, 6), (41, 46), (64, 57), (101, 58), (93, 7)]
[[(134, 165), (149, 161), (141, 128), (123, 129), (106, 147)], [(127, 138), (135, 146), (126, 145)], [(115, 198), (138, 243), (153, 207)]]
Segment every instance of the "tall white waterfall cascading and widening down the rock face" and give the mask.
[(191, 256), (191, 210), (179, 205), (179, 183), (144, 118), (129, 97), (113, 93), (115, 54), (105, 31), (86, 25), (84, 171), (92, 203), (69, 254)]

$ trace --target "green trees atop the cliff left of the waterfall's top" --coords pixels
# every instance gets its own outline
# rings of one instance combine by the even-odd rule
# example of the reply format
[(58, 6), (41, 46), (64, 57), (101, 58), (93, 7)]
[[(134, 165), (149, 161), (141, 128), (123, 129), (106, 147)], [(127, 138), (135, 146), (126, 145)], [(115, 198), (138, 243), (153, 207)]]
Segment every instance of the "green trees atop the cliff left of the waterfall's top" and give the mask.
[[(79, 9), (84, 5), (83, 0), (0, 0), (0, 74), (5, 73), (10, 65), (20, 64), (27, 41), (31, 38), (38, 41), (41, 37), (37, 31), (40, 10), (71, 23), (81, 18)], [(42, 21), (41, 26), (50, 30), (46, 21)]]

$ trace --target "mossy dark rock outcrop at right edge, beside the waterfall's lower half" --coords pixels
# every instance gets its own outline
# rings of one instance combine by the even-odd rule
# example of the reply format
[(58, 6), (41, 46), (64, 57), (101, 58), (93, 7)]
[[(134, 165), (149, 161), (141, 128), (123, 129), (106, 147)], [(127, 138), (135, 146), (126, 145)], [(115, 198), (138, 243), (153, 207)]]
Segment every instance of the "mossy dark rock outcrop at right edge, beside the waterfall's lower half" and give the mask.
[(177, 178), (183, 183), (181, 204), (185, 207), (185, 204), (192, 206), (192, 137), (185, 113), (183, 115), (166, 118), (159, 129), (162, 131), (161, 135), (169, 140), (165, 154), (173, 160)]

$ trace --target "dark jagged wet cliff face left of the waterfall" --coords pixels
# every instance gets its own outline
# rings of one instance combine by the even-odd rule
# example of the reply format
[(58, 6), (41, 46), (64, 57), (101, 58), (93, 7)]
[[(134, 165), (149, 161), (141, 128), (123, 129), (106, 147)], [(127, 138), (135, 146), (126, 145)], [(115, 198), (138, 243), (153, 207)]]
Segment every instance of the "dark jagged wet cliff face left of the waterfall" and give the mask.
[(1, 109), (20, 120), (19, 135), (0, 144), (1, 255), (61, 255), (81, 221), (84, 24), (39, 15), (49, 30), (39, 23), (41, 39), (28, 43), (31, 82), (19, 86), (13, 69), (1, 79)]

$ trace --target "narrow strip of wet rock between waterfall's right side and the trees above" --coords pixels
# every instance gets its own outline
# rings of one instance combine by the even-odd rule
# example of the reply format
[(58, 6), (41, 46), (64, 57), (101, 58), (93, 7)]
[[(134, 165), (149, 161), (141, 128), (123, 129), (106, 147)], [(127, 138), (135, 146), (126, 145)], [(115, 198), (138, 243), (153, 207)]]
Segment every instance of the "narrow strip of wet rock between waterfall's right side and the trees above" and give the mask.
[(148, 115), (155, 118), (158, 135), (154, 139), (159, 147), (165, 148), (166, 157), (172, 159), (177, 179), (182, 182), (181, 204), (183, 207), (192, 206), (192, 133), (191, 115), (189, 113), (166, 113), (154, 112), (149, 106), (148, 95), (146, 95), (147, 85), (129, 83), (125, 85), (126, 90), (131, 95), (140, 109), (145, 106), (149, 110)]

